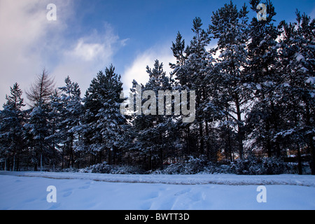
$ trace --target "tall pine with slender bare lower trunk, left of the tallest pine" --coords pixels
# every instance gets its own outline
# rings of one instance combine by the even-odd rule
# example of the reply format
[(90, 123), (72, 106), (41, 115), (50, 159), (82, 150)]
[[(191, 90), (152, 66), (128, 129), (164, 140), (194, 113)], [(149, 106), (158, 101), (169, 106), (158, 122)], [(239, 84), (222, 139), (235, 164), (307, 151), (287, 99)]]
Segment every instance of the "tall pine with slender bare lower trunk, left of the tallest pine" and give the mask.
[(218, 48), (221, 55), (215, 66), (216, 74), (212, 81), (216, 83), (221, 104), (224, 104), (225, 113), (229, 120), (234, 120), (237, 126), (239, 157), (244, 155), (244, 112), (248, 101), (248, 91), (245, 83), (248, 74), (245, 68), (247, 62), (248, 43), (248, 11), (244, 5), (241, 10), (232, 3), (225, 4), (211, 17), (209, 31), (218, 39)]

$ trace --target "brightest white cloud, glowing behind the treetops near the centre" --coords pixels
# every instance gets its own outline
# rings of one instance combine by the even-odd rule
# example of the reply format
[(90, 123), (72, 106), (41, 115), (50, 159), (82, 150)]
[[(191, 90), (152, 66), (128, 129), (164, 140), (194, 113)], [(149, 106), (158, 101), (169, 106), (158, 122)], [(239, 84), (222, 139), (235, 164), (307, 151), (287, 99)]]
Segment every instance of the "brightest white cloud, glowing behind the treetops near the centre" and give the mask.
[(136, 59), (134, 59), (134, 62), (125, 69), (125, 72), (122, 75), (125, 91), (128, 92), (130, 87), (132, 87), (132, 80), (137, 80), (139, 84), (142, 83), (144, 85), (148, 82), (146, 66), (153, 68), (155, 59), (158, 59), (160, 63), (163, 63), (163, 69), (167, 72), (167, 74), (172, 71), (169, 67), (169, 62), (176, 62), (169, 45), (158, 45), (153, 48), (149, 48), (145, 52), (139, 54)]

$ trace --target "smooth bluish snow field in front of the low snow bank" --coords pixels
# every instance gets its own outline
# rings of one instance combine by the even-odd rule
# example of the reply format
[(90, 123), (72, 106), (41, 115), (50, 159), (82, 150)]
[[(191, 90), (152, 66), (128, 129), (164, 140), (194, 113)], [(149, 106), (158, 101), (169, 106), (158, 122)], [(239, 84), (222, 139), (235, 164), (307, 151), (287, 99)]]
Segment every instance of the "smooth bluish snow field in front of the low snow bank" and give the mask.
[[(109, 183), (74, 179), (74, 176), (73, 179), (52, 179), (0, 175), (0, 209), (315, 209), (314, 186), (266, 185), (267, 202), (258, 203), (258, 185)], [(160, 175), (151, 176), (158, 179)], [(225, 175), (219, 176), (224, 178)], [(274, 179), (280, 180), (281, 176)], [(179, 177), (176, 175), (174, 179)], [(57, 189), (56, 203), (46, 199), (48, 186)]]

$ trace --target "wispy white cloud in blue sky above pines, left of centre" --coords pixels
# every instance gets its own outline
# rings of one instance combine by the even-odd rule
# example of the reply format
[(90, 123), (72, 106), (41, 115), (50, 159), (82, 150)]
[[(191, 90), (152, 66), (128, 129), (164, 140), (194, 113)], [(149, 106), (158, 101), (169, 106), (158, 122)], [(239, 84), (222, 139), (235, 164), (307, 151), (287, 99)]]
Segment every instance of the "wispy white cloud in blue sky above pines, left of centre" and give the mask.
[(79, 38), (69, 49), (62, 51), (59, 64), (52, 71), (59, 81), (57, 85), (64, 85), (64, 78), (70, 76), (73, 82), (80, 85), (84, 94), (92, 78), (99, 70), (105, 69), (106, 64), (111, 63), (113, 55), (126, 41), (120, 40), (108, 23), (104, 24), (104, 33), (94, 30), (92, 34)]

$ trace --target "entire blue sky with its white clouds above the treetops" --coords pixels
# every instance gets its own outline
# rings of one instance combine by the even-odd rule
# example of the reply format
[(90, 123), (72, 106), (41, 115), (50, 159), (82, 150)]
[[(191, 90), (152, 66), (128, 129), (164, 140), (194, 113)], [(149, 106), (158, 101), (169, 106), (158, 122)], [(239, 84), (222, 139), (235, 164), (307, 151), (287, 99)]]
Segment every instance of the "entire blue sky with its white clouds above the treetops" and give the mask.
[[(174, 62), (171, 45), (178, 31), (192, 38), (195, 17), (204, 29), (212, 12), (229, 1), (205, 0), (0, 0), (0, 104), (10, 86), (23, 91), (43, 68), (55, 77), (78, 82), (82, 96), (99, 70), (113, 64), (125, 89), (132, 79), (146, 82), (146, 65), (159, 59), (169, 69)], [(239, 8), (248, 1), (233, 1)], [(57, 20), (48, 21), (48, 3), (55, 3)], [(277, 25), (293, 22), (295, 9), (315, 16), (315, 1), (273, 1)], [(255, 17), (251, 11), (249, 18)], [(215, 44), (215, 43), (211, 43)]]

